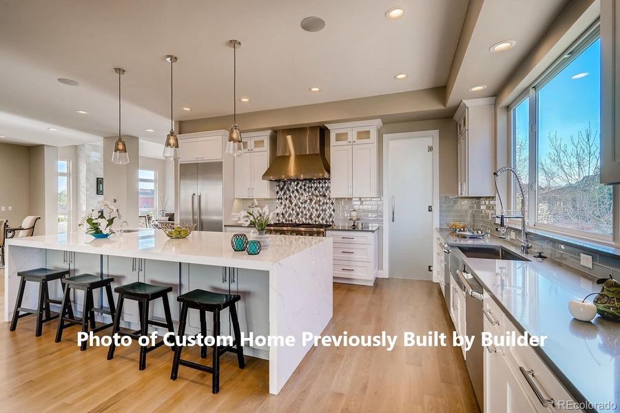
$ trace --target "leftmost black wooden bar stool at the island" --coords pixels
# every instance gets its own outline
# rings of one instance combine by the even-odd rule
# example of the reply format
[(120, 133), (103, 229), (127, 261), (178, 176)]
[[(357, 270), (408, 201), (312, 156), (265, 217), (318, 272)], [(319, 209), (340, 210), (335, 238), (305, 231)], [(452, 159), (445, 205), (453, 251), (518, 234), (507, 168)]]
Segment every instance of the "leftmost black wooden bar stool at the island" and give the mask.
[[(11, 326), (9, 330), (14, 331), (17, 328), (17, 319), (25, 317), (27, 315), (37, 315), (37, 330), (35, 335), (39, 337), (43, 331), (43, 323), (57, 319), (59, 315), (54, 315), (50, 312), (50, 303), (61, 304), (59, 299), (50, 299), (50, 290), (48, 289), (48, 283), (55, 279), (63, 279), (65, 275), (69, 275), (69, 270), (51, 270), (50, 268), (36, 268), (34, 270), (19, 271), (17, 276), (19, 279), (19, 290), (17, 291), (17, 301), (15, 301), (15, 310), (13, 311), (13, 318), (11, 320)], [(21, 301), (23, 300), (23, 290), (25, 283), (37, 282), (39, 283), (39, 300), (37, 301), (37, 309), (32, 310), (30, 308), (23, 308)], [(65, 289), (64, 284), (63, 290)], [(45, 318), (43, 318), (43, 312), (45, 312)], [(24, 313), (24, 314), (19, 314)], [(73, 315), (73, 313), (72, 313)]]

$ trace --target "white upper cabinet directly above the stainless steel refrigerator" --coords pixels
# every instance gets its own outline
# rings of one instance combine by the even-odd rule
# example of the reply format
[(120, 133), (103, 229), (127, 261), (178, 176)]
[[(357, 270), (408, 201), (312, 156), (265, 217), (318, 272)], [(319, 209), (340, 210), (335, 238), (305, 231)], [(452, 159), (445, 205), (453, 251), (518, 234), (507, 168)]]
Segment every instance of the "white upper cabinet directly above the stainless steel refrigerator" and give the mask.
[(221, 160), (227, 131), (211, 131), (178, 136), (178, 162)]

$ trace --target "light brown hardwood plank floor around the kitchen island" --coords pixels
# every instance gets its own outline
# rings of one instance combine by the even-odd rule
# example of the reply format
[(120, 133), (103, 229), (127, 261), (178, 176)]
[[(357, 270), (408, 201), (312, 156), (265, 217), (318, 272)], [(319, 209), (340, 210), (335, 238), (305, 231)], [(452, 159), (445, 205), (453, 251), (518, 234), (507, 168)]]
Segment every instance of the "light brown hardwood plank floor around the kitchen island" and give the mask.
[[(0, 280), (1, 292), (3, 270)], [(479, 412), (458, 348), (402, 346), (404, 330), (451, 331), (437, 284), (378, 279), (375, 287), (334, 284), (333, 291), (334, 315), (324, 334), (386, 330), (400, 336), (395, 349), (313, 348), (278, 396), (268, 392), (267, 361), (246, 357), (247, 367), (240, 370), (228, 353), (221, 361), (220, 393), (211, 394), (210, 374), (181, 367), (178, 379), (170, 381), (167, 348), (150, 352), (147, 369), (140, 372), (137, 344), (118, 348), (107, 361), (107, 348), (80, 352), (73, 329), (54, 343), (55, 321), (34, 337), (32, 317), (25, 317), (15, 332), (0, 323), (0, 410)], [(183, 354), (200, 360), (197, 348)]]

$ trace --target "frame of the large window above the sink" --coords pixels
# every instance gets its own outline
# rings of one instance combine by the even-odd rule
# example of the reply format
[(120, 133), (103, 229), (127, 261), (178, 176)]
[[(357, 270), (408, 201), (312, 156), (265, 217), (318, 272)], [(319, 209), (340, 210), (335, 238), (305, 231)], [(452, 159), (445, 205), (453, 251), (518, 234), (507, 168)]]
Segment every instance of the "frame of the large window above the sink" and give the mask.
[[(604, 235), (599, 233), (591, 233), (587, 231), (579, 231), (575, 229), (566, 229), (559, 226), (554, 226), (550, 224), (543, 224), (537, 221), (537, 212), (538, 212), (538, 92), (545, 85), (547, 85), (550, 81), (552, 81), (557, 74), (559, 74), (562, 70), (564, 70), (572, 61), (575, 61), (577, 57), (592, 43), (595, 43), (597, 39), (601, 37), (600, 30), (600, 22), (597, 21), (588, 28), (579, 39), (572, 43), (568, 49), (561, 54), (559, 59), (554, 61), (548, 69), (541, 74), (522, 94), (519, 94), (517, 98), (513, 101), (512, 104), (508, 106), (508, 151), (509, 151), (509, 159), (510, 165), (515, 165), (516, 154), (515, 154), (515, 136), (513, 129), (513, 110), (515, 107), (524, 102), (524, 100), (528, 100), (529, 105), (529, 116), (528, 116), (528, 187), (526, 188), (527, 196), (528, 196), (528, 209), (526, 211), (526, 228), (529, 230), (537, 230), (540, 229), (542, 231), (546, 231), (549, 233), (556, 233), (557, 235), (568, 235), (570, 237), (580, 238), (584, 240), (595, 240), (598, 242), (605, 243), (614, 243), (614, 240), (617, 240), (620, 235), (620, 231), (617, 228), (617, 225), (612, 224), (612, 234)], [(570, 53), (568, 59), (566, 55)], [(602, 85), (601, 85), (602, 89)], [(602, 91), (601, 91), (602, 92)], [(514, 208), (516, 206), (516, 186), (515, 180), (509, 178), (508, 180), (508, 205), (510, 208)], [(616, 215), (617, 211), (617, 195), (616, 191), (612, 191), (612, 214)], [(521, 227), (520, 220), (509, 220), (508, 225), (513, 226), (515, 228)]]

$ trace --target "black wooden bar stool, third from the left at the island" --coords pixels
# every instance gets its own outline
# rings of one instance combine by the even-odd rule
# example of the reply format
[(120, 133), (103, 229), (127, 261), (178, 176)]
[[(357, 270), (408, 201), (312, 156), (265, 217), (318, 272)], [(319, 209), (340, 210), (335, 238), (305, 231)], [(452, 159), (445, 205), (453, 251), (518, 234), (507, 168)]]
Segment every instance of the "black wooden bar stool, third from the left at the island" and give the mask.
[[(118, 335), (130, 336), (134, 339), (138, 339), (141, 335), (148, 335), (149, 325), (167, 328), (169, 332), (174, 332), (174, 325), (172, 324), (172, 315), (170, 314), (170, 304), (168, 302), (168, 293), (172, 291), (172, 287), (155, 286), (153, 284), (146, 284), (144, 282), (132, 282), (125, 286), (114, 288), (114, 292), (118, 293), (118, 304), (116, 305), (116, 317), (114, 317), (114, 326), (112, 327), (112, 336), (118, 333)], [(164, 306), (164, 315), (166, 322), (149, 320), (149, 303), (154, 299), (161, 298)], [(121, 331), (121, 315), (123, 314), (123, 302), (125, 299), (133, 299), (138, 301), (138, 313), (140, 316), (140, 330), (134, 332), (122, 332)], [(144, 370), (146, 368), (146, 354), (164, 344), (163, 339), (154, 344), (154, 346), (141, 346), (140, 347), (140, 361), (138, 368)], [(114, 358), (114, 340), (110, 345), (110, 349), (107, 350), (107, 359), (112, 360)], [(174, 348), (172, 349), (174, 351)]]

